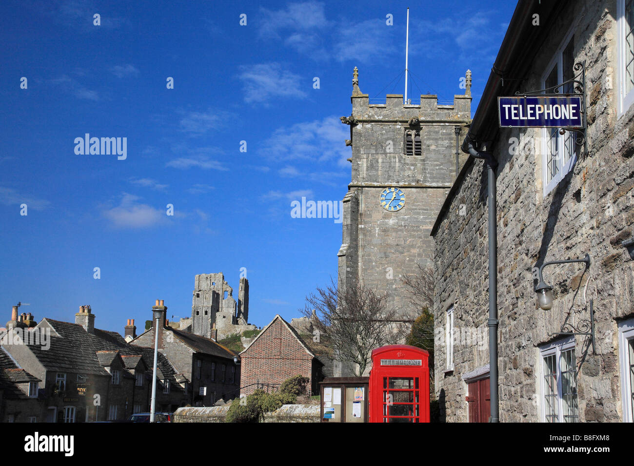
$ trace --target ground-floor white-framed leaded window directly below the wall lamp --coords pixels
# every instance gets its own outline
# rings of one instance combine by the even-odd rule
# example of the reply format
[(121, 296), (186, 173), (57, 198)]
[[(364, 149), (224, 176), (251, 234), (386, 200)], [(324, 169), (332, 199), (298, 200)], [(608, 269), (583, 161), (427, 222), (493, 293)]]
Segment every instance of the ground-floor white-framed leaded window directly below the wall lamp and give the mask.
[(545, 422), (578, 422), (574, 337), (541, 349), (541, 390)]

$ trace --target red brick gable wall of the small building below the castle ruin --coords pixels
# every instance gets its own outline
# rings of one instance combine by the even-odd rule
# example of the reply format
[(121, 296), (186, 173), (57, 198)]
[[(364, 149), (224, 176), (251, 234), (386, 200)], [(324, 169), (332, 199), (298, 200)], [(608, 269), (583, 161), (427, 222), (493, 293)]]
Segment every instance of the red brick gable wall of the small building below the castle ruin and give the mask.
[[(260, 337), (241, 355), (242, 373), (240, 385), (281, 384), (294, 375), (303, 375), (311, 379), (313, 356), (306, 352), (295, 335), (291, 333), (280, 318), (261, 333)], [(249, 395), (256, 385), (241, 389), (241, 395)]]

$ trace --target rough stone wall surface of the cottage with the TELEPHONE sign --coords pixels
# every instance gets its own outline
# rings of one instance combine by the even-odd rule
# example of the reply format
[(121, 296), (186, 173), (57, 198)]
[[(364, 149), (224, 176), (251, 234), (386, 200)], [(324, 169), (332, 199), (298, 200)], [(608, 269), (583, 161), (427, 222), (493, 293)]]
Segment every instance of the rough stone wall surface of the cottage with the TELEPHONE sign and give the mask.
[[(540, 347), (560, 337), (569, 321), (589, 318), (595, 307), (597, 354), (587, 337), (576, 337), (579, 421), (618, 422), (619, 320), (634, 315), (634, 251), (621, 240), (634, 224), (634, 106), (621, 117), (618, 89), (616, 2), (570, 2), (545, 31), (546, 41), (534, 59), (522, 89), (540, 89), (541, 76), (566, 33), (574, 27), (574, 56), (586, 61), (588, 153), (581, 155), (557, 187), (543, 194), (541, 129), (500, 129), (493, 142), (499, 162), (498, 199), (498, 332), (500, 421), (542, 420)], [(577, 23), (575, 21), (578, 20)], [(513, 139), (521, 141), (517, 150)], [(454, 306), (455, 331), (486, 327), (488, 319), (488, 231), (486, 171), (476, 160), (451, 200), (436, 234), (436, 395), (441, 418), (468, 420), (467, 384), (462, 375), (488, 363), (488, 338), (455, 342), (454, 370), (445, 372), (446, 311)], [(580, 259), (583, 264), (548, 266), (545, 280), (554, 287), (554, 304), (542, 311), (536, 304), (533, 267), (545, 261)]]

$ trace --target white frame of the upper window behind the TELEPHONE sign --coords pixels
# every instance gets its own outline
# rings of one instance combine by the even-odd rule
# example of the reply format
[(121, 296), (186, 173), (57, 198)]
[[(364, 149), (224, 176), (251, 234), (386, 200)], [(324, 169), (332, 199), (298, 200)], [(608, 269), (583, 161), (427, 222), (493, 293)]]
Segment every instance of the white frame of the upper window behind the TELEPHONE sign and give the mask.
[[(540, 84), (542, 89), (546, 89), (546, 80), (548, 76), (552, 72), (553, 68), (557, 67), (557, 84), (562, 84), (564, 81), (564, 50), (566, 50), (567, 46), (570, 44), (571, 39), (573, 39), (575, 32), (576, 23), (571, 26), (571, 28), (564, 36), (564, 39), (559, 44), (559, 47), (555, 51), (553, 57), (548, 62), (545, 71), (541, 75)], [(573, 51), (574, 51), (574, 42), (573, 42)], [(573, 57), (573, 66), (574, 66), (574, 57)], [(584, 103), (585, 104), (585, 103)], [(587, 110), (586, 110), (587, 111)], [(563, 160), (565, 148), (566, 138), (572, 138), (573, 140), (573, 153), (571, 153), (570, 158), (566, 161), (566, 164), (562, 164), (559, 167), (559, 172), (553, 176), (553, 178), (548, 181), (548, 144), (550, 143), (551, 136), (548, 135), (549, 131), (553, 131), (553, 129), (557, 129), (557, 151), (560, 152), (559, 158)], [(559, 128), (541, 128), (541, 144), (540, 144), (540, 152), (541, 152), (541, 182), (543, 185), (543, 197), (547, 197), (556, 187), (557, 184), (564, 179), (564, 177), (573, 170), (574, 164), (576, 164), (578, 159), (577, 153), (577, 145), (575, 142), (574, 133), (570, 131), (566, 131), (564, 134), (559, 134)]]

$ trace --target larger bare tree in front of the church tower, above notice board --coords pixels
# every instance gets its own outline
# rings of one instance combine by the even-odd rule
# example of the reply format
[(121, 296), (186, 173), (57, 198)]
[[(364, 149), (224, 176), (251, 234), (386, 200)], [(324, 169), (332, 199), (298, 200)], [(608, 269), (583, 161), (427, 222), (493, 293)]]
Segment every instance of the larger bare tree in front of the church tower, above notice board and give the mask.
[(360, 284), (342, 289), (331, 280), (306, 297), (301, 312), (328, 339), (335, 359), (356, 364), (361, 376), (373, 349), (396, 344), (406, 335), (396, 310), (387, 309), (387, 296)]

